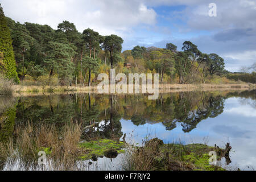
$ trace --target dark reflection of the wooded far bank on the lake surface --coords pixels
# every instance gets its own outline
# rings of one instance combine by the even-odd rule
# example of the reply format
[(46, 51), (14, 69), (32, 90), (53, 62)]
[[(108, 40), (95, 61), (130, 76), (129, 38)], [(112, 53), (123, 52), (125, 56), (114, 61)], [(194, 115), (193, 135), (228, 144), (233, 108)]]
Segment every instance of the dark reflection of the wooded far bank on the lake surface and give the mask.
[[(160, 94), (158, 100), (148, 100), (147, 94), (101, 95), (62, 94), (21, 97), (16, 106), (16, 123), (50, 122), (63, 126), (66, 122), (81, 122), (85, 137), (120, 138), (123, 118), (134, 125), (162, 123), (173, 130), (177, 123), (188, 133), (207, 118), (214, 118), (224, 110), (229, 97), (251, 98), (255, 90), (246, 92), (177, 92)], [(251, 102), (253, 103), (253, 102)]]

